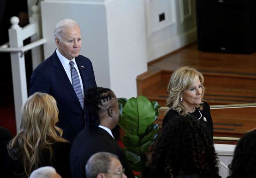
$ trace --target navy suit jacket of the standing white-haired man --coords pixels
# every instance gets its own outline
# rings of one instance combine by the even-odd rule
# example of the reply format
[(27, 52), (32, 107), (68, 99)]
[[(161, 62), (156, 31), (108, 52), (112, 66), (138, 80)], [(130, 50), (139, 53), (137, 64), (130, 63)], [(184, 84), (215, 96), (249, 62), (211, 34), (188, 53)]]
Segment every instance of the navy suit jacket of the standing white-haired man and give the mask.
[[(92, 62), (79, 55), (75, 58), (81, 75), (84, 96), (89, 88), (96, 87)], [(57, 126), (63, 130), (63, 137), (70, 142), (84, 129), (87, 117), (76, 96), (76, 92), (68, 79), (68, 75), (57, 56), (56, 50), (44, 62), (36, 67), (31, 75), (29, 95), (40, 91), (52, 95), (59, 109), (59, 122)]]

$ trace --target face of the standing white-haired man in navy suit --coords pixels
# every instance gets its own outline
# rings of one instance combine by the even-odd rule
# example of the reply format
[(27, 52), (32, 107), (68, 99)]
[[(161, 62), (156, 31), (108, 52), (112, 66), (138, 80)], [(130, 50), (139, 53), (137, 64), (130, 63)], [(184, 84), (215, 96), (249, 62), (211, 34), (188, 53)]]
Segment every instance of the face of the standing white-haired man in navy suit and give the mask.
[(78, 26), (66, 27), (61, 36), (61, 40), (55, 38), (60, 54), (68, 60), (76, 58), (82, 46), (80, 28)]

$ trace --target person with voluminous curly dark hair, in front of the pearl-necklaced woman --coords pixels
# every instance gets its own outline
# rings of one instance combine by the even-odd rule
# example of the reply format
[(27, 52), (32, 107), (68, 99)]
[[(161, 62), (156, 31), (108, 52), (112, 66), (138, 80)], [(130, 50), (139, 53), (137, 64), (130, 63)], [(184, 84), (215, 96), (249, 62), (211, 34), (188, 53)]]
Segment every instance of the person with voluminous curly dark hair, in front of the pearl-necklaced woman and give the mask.
[(177, 116), (156, 139), (143, 178), (204, 178), (218, 175), (218, 159), (205, 125), (194, 116)]

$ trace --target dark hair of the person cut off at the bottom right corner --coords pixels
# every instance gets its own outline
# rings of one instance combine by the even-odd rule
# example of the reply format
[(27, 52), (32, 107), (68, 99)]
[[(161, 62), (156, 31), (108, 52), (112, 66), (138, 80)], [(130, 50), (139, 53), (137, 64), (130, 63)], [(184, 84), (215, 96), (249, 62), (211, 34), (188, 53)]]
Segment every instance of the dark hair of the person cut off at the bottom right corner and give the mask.
[(230, 177), (256, 177), (256, 130), (246, 133), (238, 142), (228, 166)]

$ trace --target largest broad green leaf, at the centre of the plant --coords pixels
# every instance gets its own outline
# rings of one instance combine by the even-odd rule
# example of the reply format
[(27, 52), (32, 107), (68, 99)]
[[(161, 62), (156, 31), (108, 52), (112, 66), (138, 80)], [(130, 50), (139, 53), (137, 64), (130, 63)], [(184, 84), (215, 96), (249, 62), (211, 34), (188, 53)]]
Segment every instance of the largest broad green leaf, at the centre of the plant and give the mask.
[[(154, 105), (144, 96), (130, 98), (122, 112), (119, 126), (127, 134), (143, 135), (156, 118)], [(129, 128), (127, 128), (129, 127)]]

